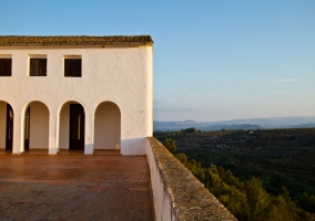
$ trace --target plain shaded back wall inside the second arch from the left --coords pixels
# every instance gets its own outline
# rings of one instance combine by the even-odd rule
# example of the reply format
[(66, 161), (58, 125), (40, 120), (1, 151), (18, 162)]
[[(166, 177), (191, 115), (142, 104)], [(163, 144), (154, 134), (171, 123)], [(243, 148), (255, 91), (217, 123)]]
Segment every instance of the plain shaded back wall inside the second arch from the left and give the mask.
[(48, 149), (49, 112), (40, 102), (30, 105), (30, 149)]

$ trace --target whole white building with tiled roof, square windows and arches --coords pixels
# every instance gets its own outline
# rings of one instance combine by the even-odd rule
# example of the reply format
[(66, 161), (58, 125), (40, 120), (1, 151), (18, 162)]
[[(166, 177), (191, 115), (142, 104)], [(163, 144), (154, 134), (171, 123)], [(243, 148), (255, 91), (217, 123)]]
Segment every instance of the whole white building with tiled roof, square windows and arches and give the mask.
[(153, 41), (0, 36), (0, 148), (144, 155), (153, 129)]

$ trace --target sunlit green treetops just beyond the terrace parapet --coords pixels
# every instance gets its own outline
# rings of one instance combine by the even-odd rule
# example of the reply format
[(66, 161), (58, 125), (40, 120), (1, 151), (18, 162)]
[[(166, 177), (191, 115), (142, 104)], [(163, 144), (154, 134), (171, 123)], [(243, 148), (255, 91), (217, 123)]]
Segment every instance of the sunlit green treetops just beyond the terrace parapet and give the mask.
[(306, 214), (291, 199), (285, 187), (278, 196), (266, 192), (260, 178), (240, 181), (227, 169), (211, 165), (202, 168), (201, 162), (189, 160), (186, 155), (175, 157), (200, 179), (205, 187), (238, 220), (306, 220)]

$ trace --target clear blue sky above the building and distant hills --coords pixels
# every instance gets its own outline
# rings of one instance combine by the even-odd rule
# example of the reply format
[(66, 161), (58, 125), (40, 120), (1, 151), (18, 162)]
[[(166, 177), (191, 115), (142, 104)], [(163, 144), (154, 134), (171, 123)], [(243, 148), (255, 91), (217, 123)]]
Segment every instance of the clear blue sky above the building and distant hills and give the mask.
[(154, 120), (315, 116), (314, 0), (2, 1), (0, 35), (154, 41)]

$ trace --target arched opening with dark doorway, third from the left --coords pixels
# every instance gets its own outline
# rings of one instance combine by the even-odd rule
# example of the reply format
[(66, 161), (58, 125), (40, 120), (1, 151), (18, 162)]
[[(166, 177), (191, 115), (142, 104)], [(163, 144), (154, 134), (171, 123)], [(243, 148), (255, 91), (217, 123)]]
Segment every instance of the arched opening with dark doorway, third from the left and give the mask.
[(67, 102), (60, 110), (59, 148), (84, 150), (84, 108), (77, 102)]

